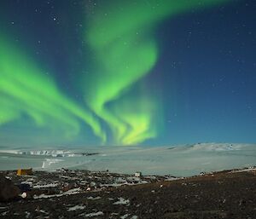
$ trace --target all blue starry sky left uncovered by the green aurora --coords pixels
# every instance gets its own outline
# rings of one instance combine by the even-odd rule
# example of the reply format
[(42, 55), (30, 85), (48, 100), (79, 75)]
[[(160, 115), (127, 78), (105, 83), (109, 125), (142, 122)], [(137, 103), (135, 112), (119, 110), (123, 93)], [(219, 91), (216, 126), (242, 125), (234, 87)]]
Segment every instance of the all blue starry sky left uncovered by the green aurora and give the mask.
[[(12, 35), (17, 44), (25, 44), (27, 52), (42, 67), (51, 70), (45, 73), (52, 74), (63, 93), (81, 106), (84, 97), (78, 92), (78, 78), (74, 75), (84, 68), (84, 57), (91, 55), (81, 39), (83, 10), (90, 6), (89, 2), (6, 0), (0, 3), (1, 32)], [(143, 145), (255, 143), (255, 12), (256, 1), (234, 0), (190, 10), (160, 22), (154, 32), (160, 55), (143, 81), (150, 84), (148, 90), (158, 93), (163, 102), (163, 124), (159, 135)], [(80, 72), (86, 73), (86, 69)], [(0, 126), (0, 141), (7, 145), (19, 142), (20, 137), (12, 140), (14, 135), (26, 134), (16, 133), (17, 127), (20, 124)], [(82, 125), (82, 129), (86, 127)], [(97, 144), (96, 137), (91, 135), (91, 131), (87, 132), (84, 140), (84, 134), (80, 134), (63, 145)], [(55, 142), (63, 143), (52, 141)]]

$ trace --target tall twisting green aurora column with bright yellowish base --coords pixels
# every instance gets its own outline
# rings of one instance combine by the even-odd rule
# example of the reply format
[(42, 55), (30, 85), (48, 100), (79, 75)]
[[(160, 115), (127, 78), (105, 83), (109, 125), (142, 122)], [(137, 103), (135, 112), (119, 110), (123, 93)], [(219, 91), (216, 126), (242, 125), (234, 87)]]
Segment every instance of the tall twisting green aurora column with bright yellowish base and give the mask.
[(155, 137), (160, 130), (154, 118), (161, 113), (157, 97), (143, 92), (136, 98), (124, 98), (157, 61), (154, 29), (159, 21), (219, 2), (224, 1), (114, 1), (96, 10), (85, 37), (100, 67), (89, 80), (85, 78), (84, 92), (89, 94), (85, 101), (109, 125), (114, 143), (137, 144)]

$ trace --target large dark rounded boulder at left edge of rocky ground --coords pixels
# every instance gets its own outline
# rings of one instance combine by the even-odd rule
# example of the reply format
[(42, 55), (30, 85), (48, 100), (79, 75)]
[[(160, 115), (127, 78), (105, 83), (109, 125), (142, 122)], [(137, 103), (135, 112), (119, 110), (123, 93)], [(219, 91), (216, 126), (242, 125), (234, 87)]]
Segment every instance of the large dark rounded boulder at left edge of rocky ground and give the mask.
[(0, 175), (0, 201), (8, 201), (18, 198), (20, 194), (19, 187), (16, 187), (13, 182)]

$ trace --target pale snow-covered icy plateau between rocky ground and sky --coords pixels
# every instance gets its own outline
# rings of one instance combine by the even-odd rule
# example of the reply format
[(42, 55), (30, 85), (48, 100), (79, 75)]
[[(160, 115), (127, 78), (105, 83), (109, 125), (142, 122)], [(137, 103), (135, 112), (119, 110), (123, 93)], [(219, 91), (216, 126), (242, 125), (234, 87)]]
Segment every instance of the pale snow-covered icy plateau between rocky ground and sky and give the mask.
[(199, 143), (174, 147), (84, 147), (83, 149), (0, 150), (0, 170), (110, 171), (194, 176), (201, 172), (256, 165), (256, 144)]

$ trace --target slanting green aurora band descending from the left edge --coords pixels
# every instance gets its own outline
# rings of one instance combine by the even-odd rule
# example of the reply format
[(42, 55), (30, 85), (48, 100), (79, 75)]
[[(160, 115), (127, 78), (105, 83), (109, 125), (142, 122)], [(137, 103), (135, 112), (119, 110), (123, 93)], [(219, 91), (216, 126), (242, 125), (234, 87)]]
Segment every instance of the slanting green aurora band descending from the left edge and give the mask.
[(32, 58), (3, 37), (0, 45), (0, 125), (26, 114), (36, 125), (63, 130), (72, 137), (79, 133), (82, 119), (105, 140), (96, 118), (62, 95)]

